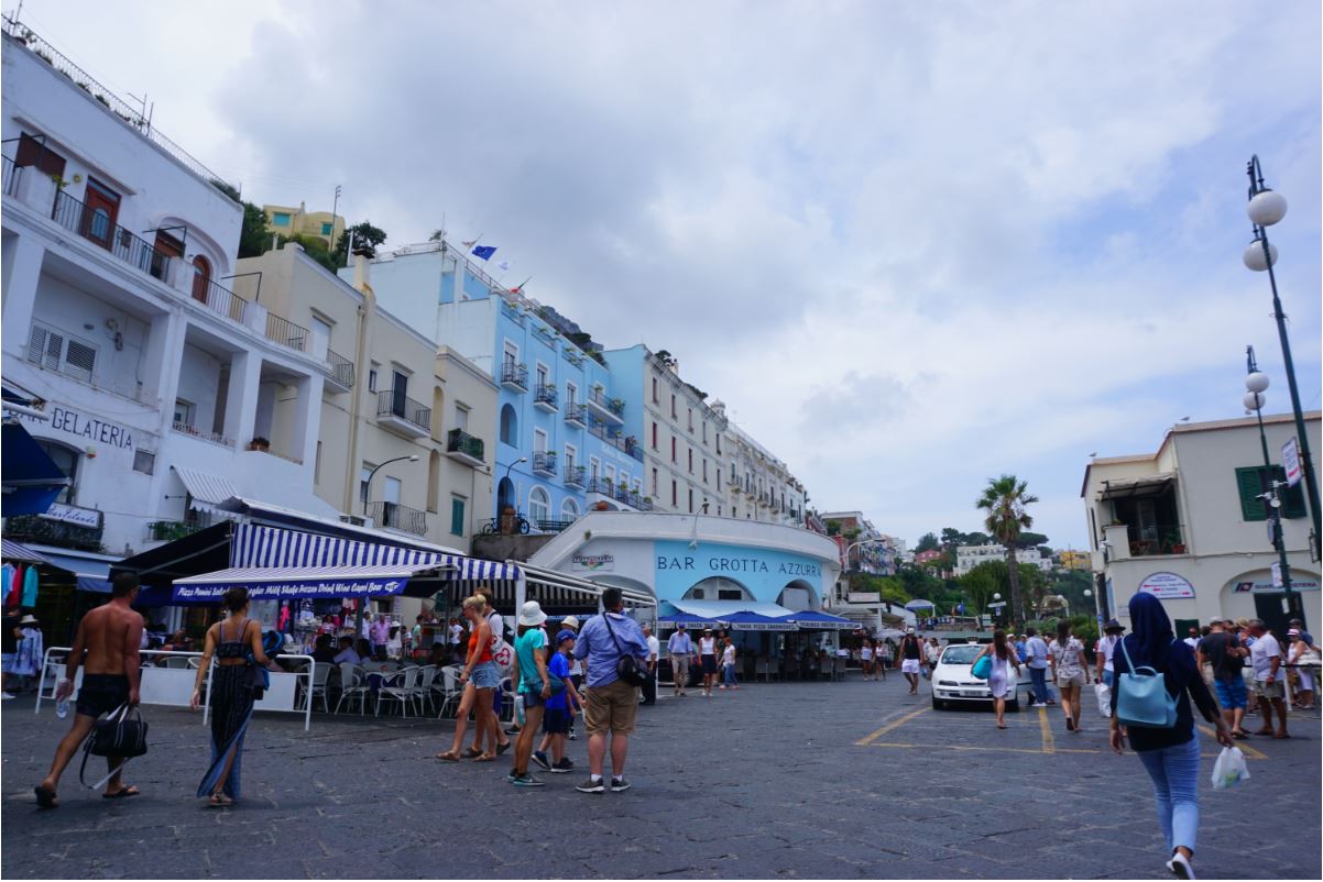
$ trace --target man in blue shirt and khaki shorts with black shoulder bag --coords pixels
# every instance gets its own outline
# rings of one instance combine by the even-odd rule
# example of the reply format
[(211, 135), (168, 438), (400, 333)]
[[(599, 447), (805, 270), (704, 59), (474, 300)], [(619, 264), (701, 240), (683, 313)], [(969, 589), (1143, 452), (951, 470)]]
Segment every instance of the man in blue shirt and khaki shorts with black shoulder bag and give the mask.
[(606, 734), (611, 733), (611, 791), (630, 789), (624, 780), (624, 759), (630, 750), (630, 733), (639, 710), (639, 688), (620, 680), (617, 664), (626, 656), (634, 656), (639, 670), (647, 669), (648, 641), (638, 623), (626, 618), (619, 588), (606, 588), (602, 592), (602, 615), (593, 616), (579, 631), (574, 644), (574, 657), (587, 661), (587, 705), (585, 707), (585, 727), (587, 730), (589, 778), (574, 789), (581, 793), (601, 793), (606, 791), (602, 780), (602, 764), (606, 758)]

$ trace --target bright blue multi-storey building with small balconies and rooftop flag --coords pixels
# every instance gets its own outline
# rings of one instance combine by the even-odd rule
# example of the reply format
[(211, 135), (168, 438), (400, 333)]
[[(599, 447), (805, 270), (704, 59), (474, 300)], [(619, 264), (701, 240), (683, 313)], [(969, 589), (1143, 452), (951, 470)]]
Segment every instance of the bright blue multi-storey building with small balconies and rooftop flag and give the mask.
[(382, 254), (372, 287), (384, 308), (496, 381), (493, 517), (513, 508), (554, 532), (590, 508), (651, 509), (636, 391), (617, 386), (578, 325), (445, 242)]

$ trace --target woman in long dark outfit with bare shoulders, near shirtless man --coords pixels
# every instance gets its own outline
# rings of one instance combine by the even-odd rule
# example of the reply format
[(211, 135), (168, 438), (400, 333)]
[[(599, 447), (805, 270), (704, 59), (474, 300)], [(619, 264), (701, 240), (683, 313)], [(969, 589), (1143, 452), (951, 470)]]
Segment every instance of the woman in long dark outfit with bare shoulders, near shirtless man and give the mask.
[(262, 645), (262, 625), (249, 619), (247, 588), (226, 591), (225, 608), (225, 619), (206, 629), (202, 659), (193, 678), (193, 697), (188, 702), (193, 710), (201, 707), (202, 680), (214, 656), (216, 670), (206, 690), (212, 710), (212, 764), (197, 785), (198, 799), (208, 799), (212, 808), (233, 805), (239, 797), (243, 738), (258, 698), (254, 665), (280, 670)]

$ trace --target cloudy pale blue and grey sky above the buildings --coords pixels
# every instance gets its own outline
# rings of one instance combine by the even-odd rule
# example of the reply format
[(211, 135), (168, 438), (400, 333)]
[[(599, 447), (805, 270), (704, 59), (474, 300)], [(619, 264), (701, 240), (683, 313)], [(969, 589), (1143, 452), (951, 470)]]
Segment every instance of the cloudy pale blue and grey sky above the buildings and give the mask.
[(1319, 406), (1318, 3), (135, 5), (22, 17), (251, 201), (483, 233), (910, 541), (1012, 472), (1085, 546), (1089, 454), (1242, 415), (1246, 344), (1289, 410), (1254, 152)]

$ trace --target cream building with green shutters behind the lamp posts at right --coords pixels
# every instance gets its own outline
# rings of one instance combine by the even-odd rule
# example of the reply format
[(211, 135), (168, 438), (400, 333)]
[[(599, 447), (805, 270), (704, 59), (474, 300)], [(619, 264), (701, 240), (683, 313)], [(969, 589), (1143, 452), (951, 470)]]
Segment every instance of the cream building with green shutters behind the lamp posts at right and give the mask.
[[(1295, 423), (1289, 414), (1263, 423), (1279, 463)], [(1306, 414), (1306, 427), (1318, 451), (1318, 411)], [(1253, 418), (1174, 426), (1154, 454), (1090, 461), (1081, 496), (1105, 612), (1125, 623), (1129, 599), (1143, 590), (1162, 598), (1181, 635), (1188, 621), (1215, 615), (1261, 618), (1285, 633), (1283, 595), (1271, 573), (1277, 554), (1258, 499), (1262, 464)], [(1302, 489), (1283, 497), (1282, 533), (1306, 623), (1318, 628), (1319, 565), (1310, 559)]]

